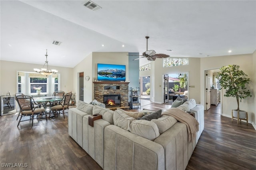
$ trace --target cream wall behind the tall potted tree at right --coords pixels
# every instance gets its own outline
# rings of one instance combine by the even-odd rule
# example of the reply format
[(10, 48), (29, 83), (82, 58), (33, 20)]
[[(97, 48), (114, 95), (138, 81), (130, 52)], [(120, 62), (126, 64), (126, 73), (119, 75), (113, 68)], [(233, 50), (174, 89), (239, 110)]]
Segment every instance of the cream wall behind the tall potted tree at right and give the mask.
[[(227, 55), (227, 56), (218, 56), (218, 57), (205, 57), (201, 58), (201, 65), (200, 65), (200, 84), (201, 87), (204, 87), (204, 71), (209, 69), (218, 69), (225, 65), (232, 65), (236, 64), (240, 66), (240, 69), (244, 71), (248, 75), (248, 78), (252, 79), (254, 77), (255, 72), (253, 71), (253, 65), (252, 65), (252, 54), (243, 54), (243, 55)], [(253, 87), (254, 86), (254, 87)], [(253, 85), (253, 82), (250, 83), (248, 89), (252, 92), (252, 94), (255, 93), (255, 84)], [(201, 103), (205, 103), (204, 101), (204, 88), (200, 89), (201, 91)], [(232, 97), (224, 97), (225, 91), (222, 89), (222, 115), (231, 117), (231, 111), (232, 109), (237, 108), (236, 99)], [(255, 95), (254, 95), (255, 96)], [(240, 109), (245, 110), (248, 112), (248, 120), (250, 123), (253, 121), (254, 117), (254, 98), (255, 97), (248, 97), (246, 99), (242, 100), (242, 103), (240, 103)]]

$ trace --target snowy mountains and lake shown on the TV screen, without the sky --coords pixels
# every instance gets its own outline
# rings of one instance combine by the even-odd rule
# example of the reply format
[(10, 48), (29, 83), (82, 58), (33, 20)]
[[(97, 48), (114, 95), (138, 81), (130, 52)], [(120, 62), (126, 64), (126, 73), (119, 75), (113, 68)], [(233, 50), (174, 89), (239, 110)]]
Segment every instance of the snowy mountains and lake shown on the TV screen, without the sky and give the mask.
[(106, 78), (106, 80), (123, 79), (125, 78), (125, 71), (122, 69), (105, 69), (98, 71), (98, 75), (102, 79)]

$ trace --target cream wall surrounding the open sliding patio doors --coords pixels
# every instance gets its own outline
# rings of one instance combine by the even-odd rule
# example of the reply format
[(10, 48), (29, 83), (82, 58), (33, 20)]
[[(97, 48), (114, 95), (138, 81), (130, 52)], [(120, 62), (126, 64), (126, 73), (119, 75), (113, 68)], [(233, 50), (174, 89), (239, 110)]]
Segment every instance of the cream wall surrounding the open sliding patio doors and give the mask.
[[(200, 103), (200, 58), (188, 58), (188, 65), (163, 67), (163, 60), (151, 62), (150, 71), (140, 71), (141, 76), (150, 76), (151, 101), (163, 103), (163, 75), (188, 73), (188, 93), (190, 99)], [(194, 86), (191, 88), (190, 86)]]

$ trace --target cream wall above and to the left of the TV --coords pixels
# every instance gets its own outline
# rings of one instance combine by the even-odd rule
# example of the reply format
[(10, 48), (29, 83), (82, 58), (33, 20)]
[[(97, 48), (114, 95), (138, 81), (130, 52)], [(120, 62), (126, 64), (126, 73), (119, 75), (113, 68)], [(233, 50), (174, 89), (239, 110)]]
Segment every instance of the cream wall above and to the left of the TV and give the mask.
[[(84, 77), (86, 77), (87, 75), (90, 77), (89, 81), (84, 80), (84, 101), (86, 103), (90, 103), (94, 99), (93, 81), (94, 77), (97, 77), (98, 63), (126, 65), (126, 81), (128, 81), (128, 59), (128, 52), (92, 52), (74, 67), (73, 86), (76, 93), (78, 89), (78, 73), (84, 72)], [(79, 98), (77, 97), (77, 99)]]

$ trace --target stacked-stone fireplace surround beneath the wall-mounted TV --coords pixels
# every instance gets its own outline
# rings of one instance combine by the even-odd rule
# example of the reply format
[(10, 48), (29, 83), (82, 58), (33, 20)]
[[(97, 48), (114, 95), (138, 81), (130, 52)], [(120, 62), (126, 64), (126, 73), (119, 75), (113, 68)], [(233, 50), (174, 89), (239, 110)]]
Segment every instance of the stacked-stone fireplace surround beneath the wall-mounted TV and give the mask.
[[(100, 103), (104, 103), (106, 107), (128, 107), (129, 100), (129, 82), (119, 81), (94, 81), (94, 99)], [(120, 101), (114, 96), (119, 95)], [(117, 102), (115, 106), (110, 105), (104, 101), (105, 97), (110, 97), (114, 102)], [(109, 102), (109, 101), (108, 101)], [(113, 102), (113, 101), (112, 101)], [(110, 102), (111, 103), (111, 102)]]

